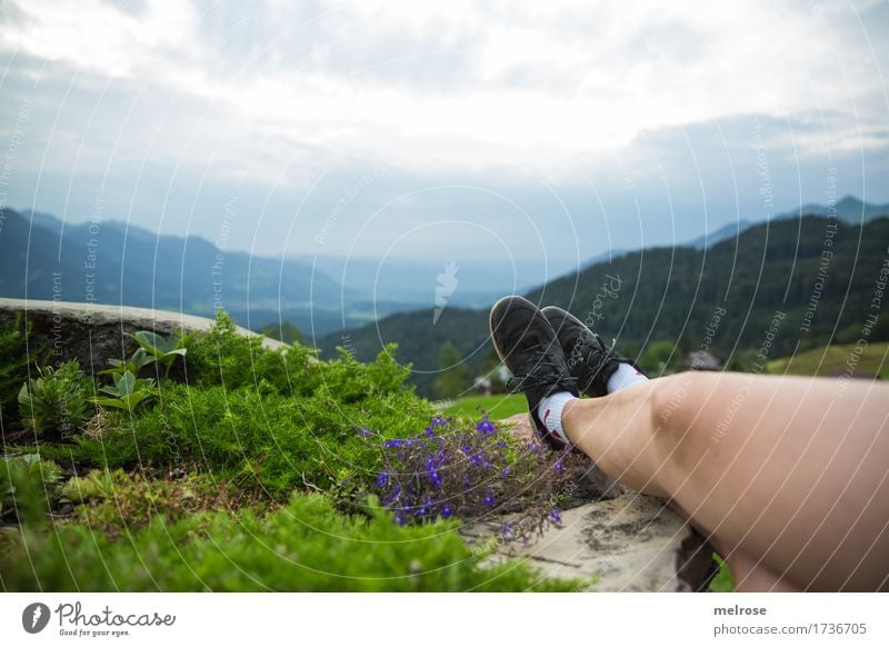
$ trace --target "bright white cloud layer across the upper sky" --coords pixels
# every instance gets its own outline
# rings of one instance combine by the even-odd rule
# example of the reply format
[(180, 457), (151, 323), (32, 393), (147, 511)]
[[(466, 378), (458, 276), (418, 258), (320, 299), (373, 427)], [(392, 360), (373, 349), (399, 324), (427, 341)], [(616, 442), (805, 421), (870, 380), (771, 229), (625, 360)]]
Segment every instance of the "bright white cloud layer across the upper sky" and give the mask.
[[(23, 21), (0, 24), (0, 42), (118, 79), (133, 96), (203, 106), (171, 113), (177, 137), (158, 146), (177, 157), (186, 140), (224, 136), (232, 157), (273, 139), (418, 170), (567, 172), (648, 130), (812, 110), (841, 116), (846, 148), (882, 145), (871, 132), (887, 117), (881, 61), (869, 60), (846, 4), (299, 4), (219, 2), (201, 12), (156, 1), (130, 14), (96, 0), (28, 0), (17, 6)], [(130, 128), (138, 141), (139, 125)]]

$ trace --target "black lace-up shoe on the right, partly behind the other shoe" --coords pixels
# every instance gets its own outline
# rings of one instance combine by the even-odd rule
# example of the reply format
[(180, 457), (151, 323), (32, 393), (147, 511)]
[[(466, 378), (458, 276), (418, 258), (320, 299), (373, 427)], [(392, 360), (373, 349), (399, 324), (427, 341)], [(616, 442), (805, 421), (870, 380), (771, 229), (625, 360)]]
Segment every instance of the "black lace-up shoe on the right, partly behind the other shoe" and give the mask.
[(570, 312), (555, 306), (543, 308), (542, 312), (556, 331), (568, 370), (577, 379), (580, 392), (595, 398), (607, 396), (608, 378), (621, 364), (642, 372), (636, 362), (618, 355), (613, 346), (608, 348), (601, 337)]

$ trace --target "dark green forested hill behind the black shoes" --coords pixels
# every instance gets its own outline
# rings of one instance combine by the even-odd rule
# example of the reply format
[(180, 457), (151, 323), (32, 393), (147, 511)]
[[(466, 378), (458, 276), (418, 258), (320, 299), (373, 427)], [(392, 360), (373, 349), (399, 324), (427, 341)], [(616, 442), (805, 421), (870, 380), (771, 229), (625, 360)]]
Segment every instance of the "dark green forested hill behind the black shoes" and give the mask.
[[(527, 297), (568, 308), (633, 354), (652, 341), (669, 340), (678, 351), (707, 346), (726, 360), (768, 342), (768, 359), (773, 359), (797, 345), (827, 344), (831, 335), (858, 339), (866, 318), (876, 313), (871, 300), (889, 258), (887, 246), (889, 218), (855, 226), (807, 216), (756, 226), (707, 249), (630, 252)], [(713, 313), (721, 311), (713, 329)], [(783, 319), (769, 332), (776, 312)], [(881, 319), (871, 341), (889, 338), (889, 315)], [(390, 341), (399, 345), (399, 360), (413, 364), (413, 384), (431, 397), (446, 341), (457, 346), (473, 371), (490, 357), (488, 312), (446, 308), (434, 325), (431, 308), (394, 315), (331, 335), (320, 346), (332, 352), (344, 345), (368, 359)]]

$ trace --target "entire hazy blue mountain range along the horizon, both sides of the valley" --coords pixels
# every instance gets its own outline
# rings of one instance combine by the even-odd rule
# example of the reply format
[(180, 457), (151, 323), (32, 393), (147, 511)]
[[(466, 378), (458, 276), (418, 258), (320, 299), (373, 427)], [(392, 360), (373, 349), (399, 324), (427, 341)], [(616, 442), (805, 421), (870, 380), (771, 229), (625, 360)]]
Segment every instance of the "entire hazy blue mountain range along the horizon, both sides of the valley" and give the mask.
[[(852, 197), (840, 200), (835, 209), (837, 218), (848, 223), (889, 212), (887, 205), (866, 205)], [(772, 222), (796, 219), (800, 212), (826, 215), (828, 208), (808, 205)], [(376, 330), (378, 321), (389, 328), (417, 318), (420, 325), (414, 332), (420, 340), (429, 332), (423, 326), (433, 321), (436, 336), (458, 335), (459, 325), (450, 328), (461, 311), (471, 318), (476, 309), (486, 309), (503, 293), (531, 293), (538, 286), (560, 285), (579, 272), (639, 253), (610, 250), (579, 269), (533, 259), (508, 267), (470, 260), (449, 268), (423, 259), (262, 257), (219, 249), (200, 237), (157, 235), (120, 221), (71, 225), (38, 211), (6, 209), (2, 213), (0, 296), (51, 299), (58, 295), (62, 300), (91, 299), (203, 316), (212, 316), (221, 306), (253, 329), (289, 320), (307, 339), (322, 339), (319, 345), (326, 349), (343, 336), (360, 339), (367, 331), (357, 330), (362, 326)], [(739, 220), (679, 247), (709, 249), (761, 226)], [(379, 342), (379, 336), (374, 337)], [(407, 346), (402, 340), (402, 354)], [(418, 369), (434, 371), (436, 367), (420, 369), (418, 365)]]

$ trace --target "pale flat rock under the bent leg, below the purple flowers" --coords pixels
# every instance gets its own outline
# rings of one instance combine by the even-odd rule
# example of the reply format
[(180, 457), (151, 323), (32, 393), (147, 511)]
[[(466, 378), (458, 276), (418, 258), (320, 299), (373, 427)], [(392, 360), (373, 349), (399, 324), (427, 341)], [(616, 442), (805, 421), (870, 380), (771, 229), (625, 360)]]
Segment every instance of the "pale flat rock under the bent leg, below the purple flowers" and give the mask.
[[(485, 543), (500, 524), (463, 528)], [(543, 575), (560, 579), (596, 577), (583, 590), (692, 591), (708, 584), (712, 549), (666, 501), (627, 494), (562, 512), (562, 527), (548, 527), (536, 540), (501, 544), (490, 559), (527, 559)]]

